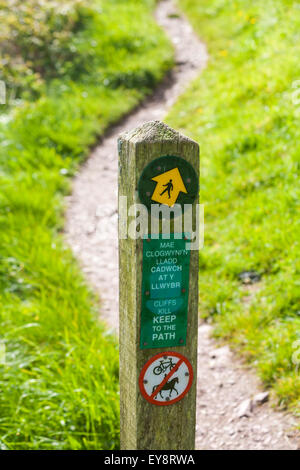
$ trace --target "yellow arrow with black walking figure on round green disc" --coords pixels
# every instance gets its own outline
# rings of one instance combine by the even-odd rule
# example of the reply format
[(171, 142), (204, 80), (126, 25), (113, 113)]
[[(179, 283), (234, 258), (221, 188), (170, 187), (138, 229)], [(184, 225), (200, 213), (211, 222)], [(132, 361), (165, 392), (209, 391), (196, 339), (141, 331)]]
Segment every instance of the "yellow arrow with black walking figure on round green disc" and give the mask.
[(178, 168), (173, 168), (173, 170), (155, 176), (152, 180), (156, 181), (157, 185), (151, 199), (160, 204), (172, 207), (177, 201), (180, 192), (187, 193)]

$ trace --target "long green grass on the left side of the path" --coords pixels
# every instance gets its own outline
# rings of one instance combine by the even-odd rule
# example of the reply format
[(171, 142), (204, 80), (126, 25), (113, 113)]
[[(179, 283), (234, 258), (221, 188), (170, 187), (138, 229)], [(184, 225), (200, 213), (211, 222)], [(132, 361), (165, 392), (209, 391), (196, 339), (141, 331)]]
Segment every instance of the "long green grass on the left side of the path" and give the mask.
[(49, 57), (40, 54), (32, 82), (11, 61), (20, 101), (0, 108), (3, 449), (119, 446), (117, 341), (99, 323), (98, 301), (60, 232), (63, 197), (90, 145), (172, 64), (153, 7), (152, 0), (80, 2), (80, 25), (68, 33), (80, 60), (43, 73)]

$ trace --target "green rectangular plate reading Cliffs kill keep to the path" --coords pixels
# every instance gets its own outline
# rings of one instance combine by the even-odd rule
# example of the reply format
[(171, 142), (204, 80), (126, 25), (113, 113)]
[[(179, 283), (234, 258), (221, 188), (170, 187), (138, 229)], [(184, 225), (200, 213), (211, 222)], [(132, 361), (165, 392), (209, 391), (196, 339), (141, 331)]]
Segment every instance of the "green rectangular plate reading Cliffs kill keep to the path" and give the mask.
[(184, 234), (155, 236), (143, 240), (141, 349), (186, 344), (190, 250)]

